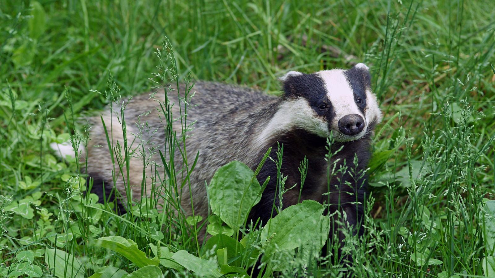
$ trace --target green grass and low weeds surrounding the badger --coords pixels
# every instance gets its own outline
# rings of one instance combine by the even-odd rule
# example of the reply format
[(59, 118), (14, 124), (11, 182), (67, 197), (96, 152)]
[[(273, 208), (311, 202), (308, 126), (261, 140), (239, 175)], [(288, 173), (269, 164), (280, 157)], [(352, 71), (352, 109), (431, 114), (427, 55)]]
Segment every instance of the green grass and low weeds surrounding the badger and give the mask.
[[(134, 240), (150, 258), (149, 243), (198, 255), (195, 229), (184, 220), (174, 235), (160, 229), (163, 221), (116, 216), (79, 196), (82, 165), (60, 161), (48, 146), (68, 134), (85, 143), (77, 119), (108, 104), (98, 92), (118, 87), (126, 96), (155, 86), (153, 52), (165, 37), (181, 82), (191, 75), (266, 93), (279, 92), (276, 78), (288, 70), (365, 62), (384, 122), (368, 171), (367, 233), (347, 244), (359, 262), (353, 272), (442, 278), (490, 271), (482, 260), (493, 255), (495, 234), (493, 211), (484, 208), (495, 188), (492, 0), (39, 2), (0, 2), (1, 276), (28, 262), (49, 277), (47, 247), (77, 258), (85, 277), (103, 266), (138, 269), (92, 244), (109, 235)], [(34, 261), (18, 256), (26, 250)], [(74, 264), (65, 260), (65, 269), (68, 261)], [(306, 276), (344, 275), (343, 266), (298, 263), (308, 263), (299, 269)], [(167, 277), (193, 274), (160, 267)]]

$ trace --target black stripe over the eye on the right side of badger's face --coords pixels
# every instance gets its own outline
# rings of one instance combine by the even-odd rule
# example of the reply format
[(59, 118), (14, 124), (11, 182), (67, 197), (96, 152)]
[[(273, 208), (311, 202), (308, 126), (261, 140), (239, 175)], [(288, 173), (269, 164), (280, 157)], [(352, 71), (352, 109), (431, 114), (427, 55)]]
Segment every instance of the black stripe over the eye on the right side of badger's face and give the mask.
[(356, 103), (359, 111), (366, 113), (366, 89), (371, 89), (371, 76), (368, 70), (352, 67), (344, 71), (347, 82), (354, 93), (354, 99), (360, 98), (361, 103)]

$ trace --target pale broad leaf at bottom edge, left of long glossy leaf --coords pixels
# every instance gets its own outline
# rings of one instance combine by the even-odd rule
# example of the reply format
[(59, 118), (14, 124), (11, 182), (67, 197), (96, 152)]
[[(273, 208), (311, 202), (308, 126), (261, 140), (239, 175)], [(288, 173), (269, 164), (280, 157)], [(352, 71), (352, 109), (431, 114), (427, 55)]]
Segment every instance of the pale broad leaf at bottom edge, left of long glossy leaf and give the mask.
[(77, 258), (59, 249), (45, 250), (45, 262), (58, 278), (83, 278), (84, 267)]

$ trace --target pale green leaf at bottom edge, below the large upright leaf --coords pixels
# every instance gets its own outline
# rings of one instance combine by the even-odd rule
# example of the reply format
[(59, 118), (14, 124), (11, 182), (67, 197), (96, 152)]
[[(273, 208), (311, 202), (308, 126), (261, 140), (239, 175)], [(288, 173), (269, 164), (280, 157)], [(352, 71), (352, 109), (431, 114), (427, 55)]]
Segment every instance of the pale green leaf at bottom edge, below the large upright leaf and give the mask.
[(175, 252), (172, 255), (172, 260), (201, 277), (218, 278), (222, 276), (220, 271), (218, 271), (216, 262), (200, 259), (185, 250)]

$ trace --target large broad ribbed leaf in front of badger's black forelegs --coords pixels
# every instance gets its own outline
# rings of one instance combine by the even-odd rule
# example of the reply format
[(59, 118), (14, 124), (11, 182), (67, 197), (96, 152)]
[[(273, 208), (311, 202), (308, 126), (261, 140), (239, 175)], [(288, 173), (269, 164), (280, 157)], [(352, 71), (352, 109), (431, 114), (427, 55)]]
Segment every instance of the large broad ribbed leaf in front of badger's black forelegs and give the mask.
[(323, 205), (316, 201), (304, 200), (270, 219), (261, 232), (265, 253), (273, 254), (277, 249), (291, 250), (320, 238), (323, 209)]

